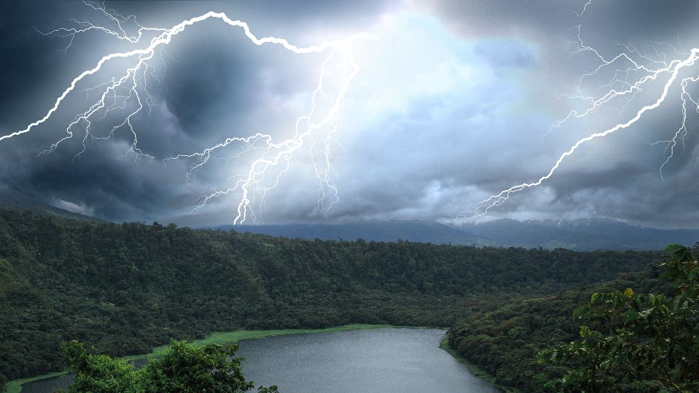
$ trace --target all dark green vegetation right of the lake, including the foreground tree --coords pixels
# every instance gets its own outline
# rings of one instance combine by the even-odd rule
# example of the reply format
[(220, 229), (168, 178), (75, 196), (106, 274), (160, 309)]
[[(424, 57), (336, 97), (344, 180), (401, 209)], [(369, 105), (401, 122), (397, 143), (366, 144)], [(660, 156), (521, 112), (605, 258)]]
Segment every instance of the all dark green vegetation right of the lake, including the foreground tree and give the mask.
[(668, 250), (668, 263), (611, 283), (470, 304), (449, 345), (526, 392), (696, 392), (699, 268)]

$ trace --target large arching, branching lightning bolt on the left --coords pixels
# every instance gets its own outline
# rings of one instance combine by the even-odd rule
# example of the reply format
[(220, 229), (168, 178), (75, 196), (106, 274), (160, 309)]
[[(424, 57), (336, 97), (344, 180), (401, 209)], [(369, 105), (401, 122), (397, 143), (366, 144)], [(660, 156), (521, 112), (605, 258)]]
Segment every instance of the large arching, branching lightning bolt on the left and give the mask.
[[(143, 48), (136, 48), (126, 52), (113, 52), (105, 55), (99, 59), (96, 64), (85, 71), (82, 71), (78, 76), (76, 76), (69, 87), (67, 87), (62, 94), (57, 97), (53, 106), (48, 110), (48, 112), (40, 119), (31, 122), (24, 129), (20, 129), (12, 132), (11, 134), (6, 134), (0, 136), (0, 142), (9, 138), (15, 138), (21, 136), (22, 134), (27, 134), (39, 127), (41, 124), (47, 122), (52, 116), (55, 115), (57, 110), (61, 108), (62, 103), (66, 100), (66, 97), (76, 91), (78, 84), (87, 83), (90, 77), (95, 76), (100, 71), (106, 71), (106, 64), (115, 62), (116, 60), (129, 60), (131, 61), (131, 66), (127, 66), (126, 69), (122, 69), (112, 75), (105, 82), (89, 87), (83, 92), (85, 92), (87, 99), (89, 100), (91, 94), (94, 97), (94, 101), (89, 104), (87, 109), (82, 113), (78, 113), (73, 117), (73, 120), (69, 122), (65, 131), (66, 136), (60, 138), (55, 143), (52, 143), (46, 150), (40, 154), (46, 154), (54, 151), (59, 147), (61, 143), (66, 140), (73, 138), (74, 132), (80, 129), (82, 131), (82, 150), (78, 152), (75, 157), (78, 157), (82, 152), (85, 152), (87, 148), (87, 143), (89, 141), (102, 142), (110, 138), (113, 138), (115, 132), (119, 129), (125, 128), (131, 133), (131, 146), (129, 150), (124, 154), (124, 157), (134, 153), (136, 157), (146, 157), (149, 160), (155, 159), (154, 156), (148, 155), (138, 148), (138, 133), (134, 129), (133, 119), (139, 115), (143, 108), (147, 108), (150, 113), (150, 108), (152, 105), (152, 99), (149, 93), (150, 85), (149, 80), (157, 80), (158, 83), (162, 82), (164, 78), (164, 71), (160, 76), (157, 75), (156, 66), (153, 64), (155, 59), (160, 59), (163, 64), (165, 63), (164, 47), (171, 43), (171, 41), (178, 36), (182, 31), (191, 27), (194, 24), (203, 22), (205, 20), (220, 20), (231, 27), (237, 27), (243, 30), (243, 34), (255, 45), (279, 45), (284, 48), (284, 50), (289, 50), (298, 55), (321, 53), (321, 52), (331, 52), (329, 57), (323, 62), (321, 74), (319, 77), (319, 84), (312, 95), (312, 108), (308, 115), (298, 117), (296, 121), (296, 127), (294, 135), (284, 141), (275, 142), (271, 135), (257, 133), (248, 137), (236, 137), (236, 138), (226, 138), (225, 141), (213, 146), (212, 148), (207, 148), (203, 152), (196, 152), (192, 154), (182, 154), (175, 157), (168, 157), (163, 160), (164, 163), (171, 161), (173, 159), (195, 159), (194, 164), (190, 167), (189, 173), (187, 173), (187, 178), (192, 176), (193, 173), (199, 171), (212, 157), (212, 154), (218, 150), (226, 148), (226, 146), (232, 145), (238, 147), (238, 152), (229, 159), (240, 157), (246, 152), (254, 152), (258, 155), (257, 159), (254, 159), (252, 164), (248, 167), (247, 173), (243, 176), (242, 180), (236, 181), (236, 183), (226, 190), (214, 192), (210, 195), (202, 197), (199, 206), (201, 208), (205, 206), (208, 201), (219, 197), (224, 194), (229, 194), (229, 192), (240, 191), (240, 203), (238, 204), (235, 224), (245, 222), (248, 213), (252, 213), (253, 220), (257, 222), (257, 218), (252, 212), (252, 204), (254, 201), (259, 200), (259, 206), (264, 203), (264, 194), (268, 190), (271, 190), (278, 184), (280, 176), (283, 175), (290, 165), (291, 159), (294, 157), (294, 153), (300, 150), (304, 143), (308, 141), (310, 159), (312, 166), (315, 170), (317, 183), (319, 187), (319, 200), (317, 208), (318, 210), (327, 215), (329, 210), (332, 208), (333, 204), (338, 201), (338, 190), (333, 185), (331, 181), (331, 157), (333, 153), (332, 137), (337, 131), (340, 124), (340, 113), (345, 102), (345, 95), (349, 89), (349, 84), (359, 70), (354, 62), (354, 57), (352, 56), (352, 43), (358, 39), (372, 38), (368, 34), (352, 34), (351, 36), (344, 38), (342, 40), (336, 41), (326, 41), (319, 43), (317, 45), (311, 46), (296, 46), (284, 38), (278, 38), (274, 36), (259, 38), (252, 34), (250, 27), (247, 23), (240, 20), (233, 20), (228, 17), (225, 13), (217, 13), (210, 11), (198, 17), (192, 17), (191, 19), (183, 20), (182, 22), (175, 24), (173, 27), (168, 29), (164, 28), (154, 28), (154, 27), (144, 27), (138, 23), (134, 15), (123, 16), (117, 13), (115, 10), (107, 9), (104, 3), (95, 3), (92, 1), (85, 1), (85, 5), (101, 13), (106, 20), (111, 24), (111, 26), (103, 26), (101, 24), (94, 24), (87, 20), (77, 20), (73, 19), (72, 22), (75, 23), (76, 27), (72, 28), (59, 28), (52, 31), (41, 32), (44, 35), (56, 35), (64, 38), (69, 38), (69, 43), (64, 48), (64, 52), (67, 52), (71, 45), (73, 45), (73, 38), (78, 34), (85, 34), (90, 31), (101, 32), (114, 36), (121, 41), (127, 41), (131, 45), (143, 45)], [(129, 34), (129, 30), (133, 31)], [(147, 37), (152, 36), (150, 41), (147, 41)], [(338, 51), (343, 52), (343, 57), (345, 59), (345, 67), (342, 73), (342, 78), (340, 81), (340, 88), (334, 94), (326, 92), (324, 87), (324, 79), (326, 74), (326, 66), (329, 64), (331, 59), (338, 55)], [(327, 115), (322, 117), (321, 120), (315, 120), (315, 111), (319, 103), (329, 102), (329, 108)], [(106, 117), (110, 113), (124, 113), (120, 121), (112, 124), (111, 127), (107, 127), (108, 132), (106, 135), (98, 135), (95, 133), (94, 123), (96, 122), (106, 122)], [(323, 131), (324, 138), (322, 142), (317, 139), (316, 134), (319, 131)], [(322, 148), (319, 148), (320, 145)], [(273, 176), (273, 185), (264, 186), (263, 182), (266, 176), (269, 175), (269, 171), (275, 167), (278, 167), (279, 171)], [(331, 194), (331, 199), (326, 202), (327, 194)]]

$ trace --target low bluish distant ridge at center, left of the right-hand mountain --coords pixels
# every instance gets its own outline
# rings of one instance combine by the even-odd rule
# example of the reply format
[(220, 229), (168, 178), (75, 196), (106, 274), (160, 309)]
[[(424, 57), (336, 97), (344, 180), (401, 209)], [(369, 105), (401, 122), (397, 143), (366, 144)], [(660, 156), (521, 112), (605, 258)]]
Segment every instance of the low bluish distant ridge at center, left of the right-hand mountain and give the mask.
[(219, 229), (235, 229), (239, 232), (267, 234), (288, 238), (349, 240), (362, 238), (365, 241), (415, 241), (420, 243), (453, 245), (489, 245), (491, 241), (480, 238), (461, 229), (449, 227), (439, 222), (422, 221), (380, 221), (349, 222), (345, 224), (279, 224), (279, 225), (230, 225)]

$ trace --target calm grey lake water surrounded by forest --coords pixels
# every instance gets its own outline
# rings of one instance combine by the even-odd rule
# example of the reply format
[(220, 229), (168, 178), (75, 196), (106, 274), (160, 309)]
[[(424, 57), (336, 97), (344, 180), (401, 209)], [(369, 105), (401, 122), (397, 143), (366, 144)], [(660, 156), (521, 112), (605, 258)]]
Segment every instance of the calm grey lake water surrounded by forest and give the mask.
[[(243, 371), (281, 393), (498, 390), (439, 348), (444, 329), (384, 328), (240, 341)], [(65, 388), (70, 376), (27, 383), (22, 393)]]

